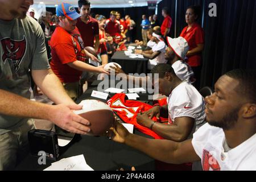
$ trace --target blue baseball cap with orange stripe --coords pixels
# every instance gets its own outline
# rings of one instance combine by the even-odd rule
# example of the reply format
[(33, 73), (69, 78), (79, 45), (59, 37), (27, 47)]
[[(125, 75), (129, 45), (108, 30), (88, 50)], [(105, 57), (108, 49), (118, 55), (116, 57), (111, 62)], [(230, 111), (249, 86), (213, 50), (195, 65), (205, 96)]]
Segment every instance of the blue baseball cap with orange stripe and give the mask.
[(75, 20), (81, 16), (76, 12), (75, 7), (69, 3), (61, 3), (59, 6), (57, 6), (56, 15), (66, 16), (70, 20)]

